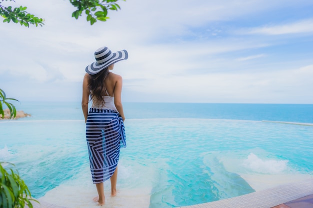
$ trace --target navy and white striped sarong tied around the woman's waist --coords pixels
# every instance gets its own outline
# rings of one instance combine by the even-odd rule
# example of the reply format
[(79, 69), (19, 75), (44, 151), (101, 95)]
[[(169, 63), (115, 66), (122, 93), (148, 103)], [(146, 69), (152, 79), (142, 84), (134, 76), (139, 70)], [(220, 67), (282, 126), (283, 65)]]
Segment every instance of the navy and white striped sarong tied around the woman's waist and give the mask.
[(90, 108), (86, 140), (92, 181), (104, 182), (116, 169), (120, 148), (126, 147), (124, 123), (118, 112)]

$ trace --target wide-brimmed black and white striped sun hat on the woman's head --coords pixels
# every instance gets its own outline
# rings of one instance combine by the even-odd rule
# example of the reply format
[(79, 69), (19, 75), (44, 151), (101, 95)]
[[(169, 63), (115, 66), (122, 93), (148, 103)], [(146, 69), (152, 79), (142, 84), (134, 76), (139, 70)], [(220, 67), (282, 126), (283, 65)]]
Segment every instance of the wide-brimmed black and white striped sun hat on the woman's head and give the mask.
[(88, 74), (96, 74), (105, 69), (109, 65), (128, 58), (126, 50), (120, 50), (112, 53), (106, 46), (98, 48), (94, 52), (95, 61), (86, 66), (85, 71)]

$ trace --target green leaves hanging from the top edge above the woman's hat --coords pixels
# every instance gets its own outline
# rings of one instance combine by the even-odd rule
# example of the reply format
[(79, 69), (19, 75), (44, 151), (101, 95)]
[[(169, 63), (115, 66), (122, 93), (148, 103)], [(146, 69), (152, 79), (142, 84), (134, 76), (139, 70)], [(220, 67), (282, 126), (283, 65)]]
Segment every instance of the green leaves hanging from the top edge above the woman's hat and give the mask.
[[(118, 0), (69, 0), (70, 3), (77, 7), (77, 10), (72, 13), (72, 17), (78, 19), (81, 13), (85, 11), (87, 21), (92, 25), (96, 20), (106, 21), (108, 10), (118, 10)], [(124, 0), (125, 1), (125, 0)]]

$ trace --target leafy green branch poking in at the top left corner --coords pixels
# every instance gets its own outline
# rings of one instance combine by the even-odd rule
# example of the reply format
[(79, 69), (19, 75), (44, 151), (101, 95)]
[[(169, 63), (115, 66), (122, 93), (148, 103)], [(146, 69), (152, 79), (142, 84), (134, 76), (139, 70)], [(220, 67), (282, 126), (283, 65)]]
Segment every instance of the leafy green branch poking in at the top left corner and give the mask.
[(4, 18), (3, 22), (19, 22), (20, 25), (24, 25), (26, 27), (29, 27), (29, 24), (34, 24), (35, 26), (43, 25), (43, 19), (33, 14), (27, 13), (26, 6), (19, 6), (15, 8), (12, 8), (12, 6), (5, 7), (1, 5), (1, 1), (3, 0), (0, 0), (0, 16)]

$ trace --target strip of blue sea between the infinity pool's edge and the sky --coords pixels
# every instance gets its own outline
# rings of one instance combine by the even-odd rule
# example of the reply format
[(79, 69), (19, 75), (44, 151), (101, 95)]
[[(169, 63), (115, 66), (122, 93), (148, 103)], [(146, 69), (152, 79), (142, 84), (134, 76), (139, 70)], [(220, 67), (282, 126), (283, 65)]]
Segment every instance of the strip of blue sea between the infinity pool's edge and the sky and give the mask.
[[(89, 103), (89, 107), (91, 103)], [(15, 105), (23, 120), (81, 120), (80, 102), (28, 101)], [(126, 119), (206, 118), (313, 123), (313, 104), (124, 102)]]

